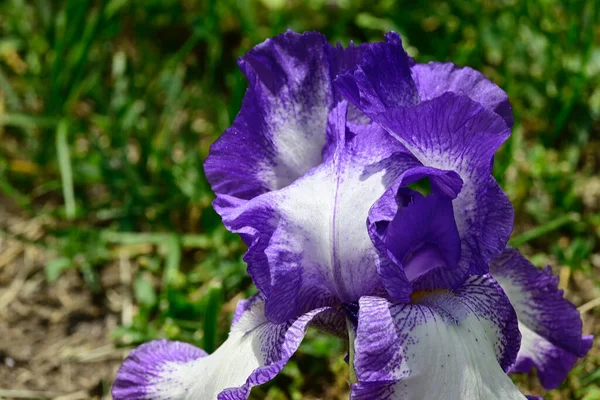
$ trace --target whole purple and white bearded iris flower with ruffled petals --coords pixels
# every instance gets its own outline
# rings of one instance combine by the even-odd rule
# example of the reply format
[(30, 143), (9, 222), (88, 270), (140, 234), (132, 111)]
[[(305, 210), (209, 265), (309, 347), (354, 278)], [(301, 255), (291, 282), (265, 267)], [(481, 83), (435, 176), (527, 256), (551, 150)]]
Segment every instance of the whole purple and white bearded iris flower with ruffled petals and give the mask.
[(498, 86), (415, 63), (394, 32), (344, 49), (288, 31), (239, 65), (249, 88), (205, 173), (259, 292), (211, 355), (133, 350), (115, 399), (247, 399), (309, 326), (348, 340), (353, 400), (516, 400), (507, 373), (565, 379), (592, 338), (557, 278), (507, 247), (513, 209), (491, 169), (513, 118)]

